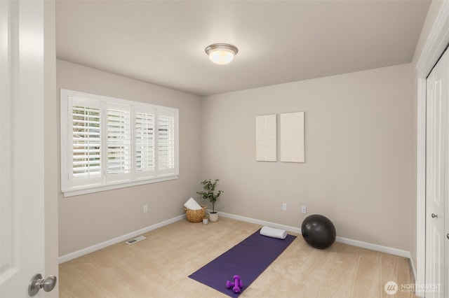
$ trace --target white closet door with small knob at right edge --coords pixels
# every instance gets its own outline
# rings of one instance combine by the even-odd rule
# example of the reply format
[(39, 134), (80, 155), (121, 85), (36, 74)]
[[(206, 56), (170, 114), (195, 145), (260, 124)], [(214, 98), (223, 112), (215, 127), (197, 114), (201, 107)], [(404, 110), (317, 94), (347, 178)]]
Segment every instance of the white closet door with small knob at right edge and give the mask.
[(427, 78), (426, 296), (445, 297), (449, 52)]

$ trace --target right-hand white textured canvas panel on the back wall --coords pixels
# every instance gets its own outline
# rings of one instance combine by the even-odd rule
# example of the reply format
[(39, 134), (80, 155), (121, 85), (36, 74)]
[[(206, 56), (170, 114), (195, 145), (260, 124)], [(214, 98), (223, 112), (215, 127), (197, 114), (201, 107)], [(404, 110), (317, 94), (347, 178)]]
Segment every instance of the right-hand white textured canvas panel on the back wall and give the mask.
[(281, 162), (304, 162), (304, 112), (281, 114)]

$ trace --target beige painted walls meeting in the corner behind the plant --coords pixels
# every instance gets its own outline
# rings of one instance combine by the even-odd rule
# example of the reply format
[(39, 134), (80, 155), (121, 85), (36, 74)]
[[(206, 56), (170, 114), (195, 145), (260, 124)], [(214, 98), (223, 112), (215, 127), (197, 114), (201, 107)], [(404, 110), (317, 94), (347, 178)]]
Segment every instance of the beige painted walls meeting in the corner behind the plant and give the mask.
[[(300, 227), (305, 205), (338, 236), (413, 250), (413, 76), (404, 64), (199, 99), (58, 60), (58, 90), (180, 108), (179, 179), (69, 198), (58, 183), (59, 255), (182, 214), (204, 178), (221, 179), (219, 211)], [(306, 162), (255, 162), (255, 115), (293, 111), (306, 112)]]

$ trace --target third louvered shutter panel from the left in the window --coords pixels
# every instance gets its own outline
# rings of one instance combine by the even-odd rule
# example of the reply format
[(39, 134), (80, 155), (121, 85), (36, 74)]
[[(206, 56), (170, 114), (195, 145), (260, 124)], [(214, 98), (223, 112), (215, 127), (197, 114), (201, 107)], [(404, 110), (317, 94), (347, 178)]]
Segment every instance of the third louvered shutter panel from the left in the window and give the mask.
[(135, 108), (135, 176), (154, 175), (154, 111)]

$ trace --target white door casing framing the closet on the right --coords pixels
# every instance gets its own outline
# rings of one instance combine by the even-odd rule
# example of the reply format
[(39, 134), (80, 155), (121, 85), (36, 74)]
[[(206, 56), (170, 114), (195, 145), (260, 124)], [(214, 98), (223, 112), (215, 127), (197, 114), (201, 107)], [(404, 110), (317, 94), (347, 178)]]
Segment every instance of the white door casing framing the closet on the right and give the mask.
[[(417, 61), (417, 218), (416, 284), (424, 285), (426, 261), (426, 78), (449, 44), (449, 2), (443, 1)], [(416, 295), (424, 297), (417, 287)]]

